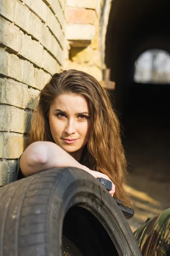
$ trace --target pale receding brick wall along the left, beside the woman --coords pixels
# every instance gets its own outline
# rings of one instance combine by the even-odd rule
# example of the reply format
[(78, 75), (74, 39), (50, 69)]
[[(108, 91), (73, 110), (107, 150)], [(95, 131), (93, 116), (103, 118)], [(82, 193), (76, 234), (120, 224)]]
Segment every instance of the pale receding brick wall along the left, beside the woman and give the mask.
[(14, 180), (32, 103), (65, 61), (65, 0), (0, 0), (0, 186)]

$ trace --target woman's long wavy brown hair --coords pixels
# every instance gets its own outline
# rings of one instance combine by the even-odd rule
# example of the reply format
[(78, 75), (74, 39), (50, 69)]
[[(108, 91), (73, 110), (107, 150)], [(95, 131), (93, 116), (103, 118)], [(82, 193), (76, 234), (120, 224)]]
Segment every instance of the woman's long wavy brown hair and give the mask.
[(125, 189), (127, 163), (120, 138), (120, 124), (108, 93), (91, 75), (78, 70), (56, 73), (39, 94), (32, 116), (30, 144), (35, 141), (54, 142), (49, 128), (49, 109), (56, 96), (74, 93), (83, 96), (90, 111), (90, 138), (84, 147), (81, 163), (106, 174), (115, 184), (114, 196), (132, 206)]

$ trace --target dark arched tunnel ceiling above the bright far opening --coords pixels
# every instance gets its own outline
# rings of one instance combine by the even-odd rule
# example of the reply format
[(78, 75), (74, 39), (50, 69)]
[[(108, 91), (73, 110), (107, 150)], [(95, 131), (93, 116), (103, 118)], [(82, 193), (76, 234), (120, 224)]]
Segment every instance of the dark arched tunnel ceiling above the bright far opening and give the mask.
[(113, 0), (106, 35), (105, 63), (115, 93), (125, 93), (136, 58), (147, 49), (170, 52), (170, 1)]

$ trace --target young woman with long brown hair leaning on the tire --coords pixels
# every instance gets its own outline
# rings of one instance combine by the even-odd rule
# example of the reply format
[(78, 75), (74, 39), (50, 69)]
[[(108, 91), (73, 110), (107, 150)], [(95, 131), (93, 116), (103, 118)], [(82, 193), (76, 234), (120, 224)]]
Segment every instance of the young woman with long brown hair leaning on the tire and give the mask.
[[(109, 193), (131, 207), (118, 119), (98, 81), (77, 70), (56, 73), (40, 92), (17, 179), (64, 166), (111, 180)], [(169, 230), (170, 209), (140, 227), (135, 237), (142, 254), (170, 255)]]

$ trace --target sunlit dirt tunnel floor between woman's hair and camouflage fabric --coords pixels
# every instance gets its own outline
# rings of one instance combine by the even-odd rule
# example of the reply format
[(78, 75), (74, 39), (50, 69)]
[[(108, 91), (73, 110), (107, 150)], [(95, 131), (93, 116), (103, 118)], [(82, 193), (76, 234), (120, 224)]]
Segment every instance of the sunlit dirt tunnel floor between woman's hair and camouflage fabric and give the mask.
[(153, 172), (151, 168), (136, 168), (128, 187), (133, 197), (135, 215), (128, 222), (133, 231), (159, 212), (170, 207), (170, 180), (164, 172)]

